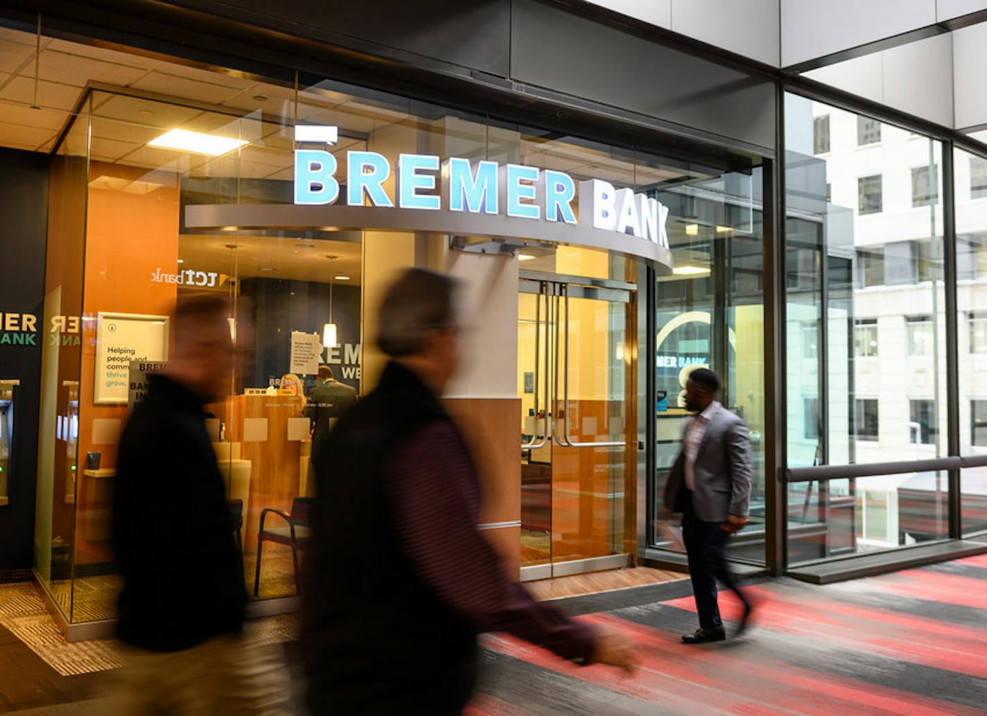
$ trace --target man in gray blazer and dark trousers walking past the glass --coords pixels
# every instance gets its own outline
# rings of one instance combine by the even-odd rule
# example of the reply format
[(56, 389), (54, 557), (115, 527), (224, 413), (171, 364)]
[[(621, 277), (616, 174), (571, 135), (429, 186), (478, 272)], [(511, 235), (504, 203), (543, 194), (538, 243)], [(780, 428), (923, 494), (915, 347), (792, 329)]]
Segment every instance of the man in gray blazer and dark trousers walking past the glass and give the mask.
[(747, 426), (716, 400), (720, 378), (696, 368), (685, 388), (689, 421), (665, 486), (665, 508), (682, 513), (682, 538), (699, 612), (699, 629), (682, 637), (686, 644), (722, 641), (726, 631), (717, 604), (717, 580), (743, 604), (737, 634), (747, 626), (751, 604), (740, 591), (726, 560), (730, 534), (747, 524), (751, 460)]

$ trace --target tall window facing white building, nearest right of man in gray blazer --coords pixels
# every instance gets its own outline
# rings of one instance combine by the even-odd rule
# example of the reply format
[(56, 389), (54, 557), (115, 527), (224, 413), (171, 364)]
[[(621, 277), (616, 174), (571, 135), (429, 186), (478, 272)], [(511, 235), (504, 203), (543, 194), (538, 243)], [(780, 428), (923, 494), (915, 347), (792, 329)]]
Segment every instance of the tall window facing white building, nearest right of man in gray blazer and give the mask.
[[(945, 456), (942, 144), (793, 94), (785, 117), (788, 465)], [(948, 494), (945, 471), (793, 483), (790, 563), (945, 537)]]

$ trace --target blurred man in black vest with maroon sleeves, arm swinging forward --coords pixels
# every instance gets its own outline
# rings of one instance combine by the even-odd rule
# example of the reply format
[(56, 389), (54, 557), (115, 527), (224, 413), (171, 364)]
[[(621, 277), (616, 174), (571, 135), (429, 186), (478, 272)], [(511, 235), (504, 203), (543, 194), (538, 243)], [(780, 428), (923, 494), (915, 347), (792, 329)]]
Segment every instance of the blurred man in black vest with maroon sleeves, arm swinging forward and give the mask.
[(313, 714), (459, 714), (484, 631), (635, 666), (623, 635), (530, 597), (478, 528), (476, 466), (439, 402), (457, 362), (454, 288), (420, 269), (391, 286), (377, 335), (391, 362), (317, 468), (302, 637)]

